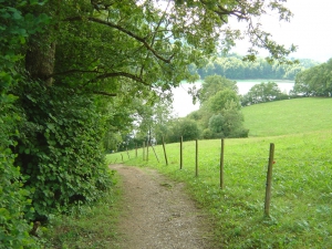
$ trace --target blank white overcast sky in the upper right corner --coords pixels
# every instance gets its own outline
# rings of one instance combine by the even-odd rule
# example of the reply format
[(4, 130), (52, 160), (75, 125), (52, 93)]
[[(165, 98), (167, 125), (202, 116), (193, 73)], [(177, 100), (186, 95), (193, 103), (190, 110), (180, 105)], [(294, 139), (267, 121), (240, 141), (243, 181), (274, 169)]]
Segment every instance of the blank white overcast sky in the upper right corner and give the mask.
[[(326, 62), (332, 58), (332, 1), (331, 0), (288, 0), (286, 6), (293, 12), (290, 22), (279, 22), (277, 17), (263, 19), (264, 29), (273, 39), (289, 48), (298, 45), (297, 59), (312, 59)], [(240, 54), (246, 52), (239, 44)]]

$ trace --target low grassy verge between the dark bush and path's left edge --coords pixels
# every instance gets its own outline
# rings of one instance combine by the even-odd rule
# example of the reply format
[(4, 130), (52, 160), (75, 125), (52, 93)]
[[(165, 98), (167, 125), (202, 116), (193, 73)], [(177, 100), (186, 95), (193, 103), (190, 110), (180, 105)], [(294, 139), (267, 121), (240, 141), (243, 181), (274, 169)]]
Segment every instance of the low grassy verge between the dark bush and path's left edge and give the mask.
[[(115, 175), (116, 176), (116, 175)], [(116, 178), (118, 181), (117, 177)], [(70, 214), (52, 216), (40, 232), (48, 249), (120, 249), (116, 229), (121, 210), (121, 184), (93, 206), (76, 206)]]

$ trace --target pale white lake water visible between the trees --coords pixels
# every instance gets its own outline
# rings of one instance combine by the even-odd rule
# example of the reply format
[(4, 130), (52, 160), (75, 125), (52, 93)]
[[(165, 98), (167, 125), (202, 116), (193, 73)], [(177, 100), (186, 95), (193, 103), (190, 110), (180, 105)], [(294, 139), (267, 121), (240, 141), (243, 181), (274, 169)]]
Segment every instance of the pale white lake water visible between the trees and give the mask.
[[(239, 89), (239, 94), (243, 95), (249, 92), (249, 90), (256, 85), (260, 84), (261, 82), (276, 82), (281, 92), (289, 94), (289, 91), (293, 89), (294, 82), (293, 81), (280, 81), (280, 80), (249, 80), (249, 81), (237, 81), (237, 86)], [(189, 83), (181, 83), (179, 87), (173, 89), (174, 101), (173, 101), (173, 108), (174, 114), (177, 114), (179, 117), (184, 117), (189, 113), (199, 108), (199, 103), (196, 105), (193, 104), (193, 98), (188, 94), (188, 89), (196, 85), (197, 89), (200, 87), (201, 81), (198, 81), (194, 84)]]

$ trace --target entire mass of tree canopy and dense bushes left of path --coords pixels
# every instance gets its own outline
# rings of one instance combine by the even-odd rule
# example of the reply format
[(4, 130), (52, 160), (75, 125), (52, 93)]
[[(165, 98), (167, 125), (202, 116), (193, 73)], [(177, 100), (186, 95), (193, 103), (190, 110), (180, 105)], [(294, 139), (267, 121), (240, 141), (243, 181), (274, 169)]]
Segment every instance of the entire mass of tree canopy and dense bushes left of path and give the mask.
[(277, 0), (0, 0), (1, 247), (37, 248), (29, 221), (101, 197), (103, 152), (131, 129), (135, 101), (196, 80), (189, 65), (241, 38), (230, 18), (248, 23), (247, 60), (266, 48), (287, 61), (294, 46), (255, 21), (268, 10), (291, 17)]

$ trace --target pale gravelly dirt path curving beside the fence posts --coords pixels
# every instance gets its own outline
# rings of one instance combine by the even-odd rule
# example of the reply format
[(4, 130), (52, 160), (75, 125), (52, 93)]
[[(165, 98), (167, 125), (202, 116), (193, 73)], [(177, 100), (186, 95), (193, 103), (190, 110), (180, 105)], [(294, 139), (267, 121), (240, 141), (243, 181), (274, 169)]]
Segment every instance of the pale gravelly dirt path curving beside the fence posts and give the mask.
[(208, 245), (207, 216), (184, 190), (154, 169), (111, 165), (122, 177), (120, 217), (124, 249), (203, 249)]

